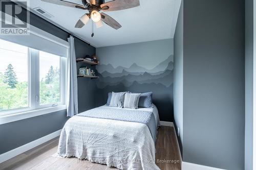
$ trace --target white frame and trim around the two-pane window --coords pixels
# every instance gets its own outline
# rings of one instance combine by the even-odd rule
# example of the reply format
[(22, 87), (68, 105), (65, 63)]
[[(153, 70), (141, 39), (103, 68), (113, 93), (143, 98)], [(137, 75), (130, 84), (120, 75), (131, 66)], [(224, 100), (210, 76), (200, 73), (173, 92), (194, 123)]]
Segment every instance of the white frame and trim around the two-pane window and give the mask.
[[(41, 38), (47, 39), (51, 42), (54, 42), (56, 44), (62, 45), (67, 48), (67, 56), (69, 53), (69, 43), (65, 40), (62, 40), (56, 36), (53, 36), (52, 34), (49, 34), (45, 31), (42, 31), (32, 25), (30, 25), (30, 32), (32, 34), (35, 34), (37, 36), (40, 36)], [(8, 39), (1, 37), (1, 39), (8, 41)], [(12, 41), (10, 41), (12, 42)], [(14, 42), (16, 43), (16, 42)], [(29, 48), (29, 51), (33, 50), (32, 48)], [(29, 117), (34, 117), (42, 114), (48, 114), (60, 110), (66, 110), (66, 58), (60, 57), (60, 102), (53, 105), (39, 105), (39, 51), (37, 57), (31, 57), (28, 56), (28, 107), (26, 108), (18, 108), (18, 109), (12, 109), (7, 111), (1, 111), (0, 112), (0, 125), (6, 124), (10, 122), (14, 122), (20, 119), (25, 119)], [(28, 53), (28, 55), (35, 55), (33, 53)], [(31, 61), (32, 60), (32, 61)], [(35, 61), (38, 60), (38, 61)], [(35, 69), (37, 69), (37, 76), (31, 75), (31, 72), (33, 72)], [(37, 79), (38, 81), (36, 82)], [(32, 88), (33, 87), (33, 88)], [(37, 94), (36, 94), (37, 93)], [(36, 95), (38, 96), (38, 102), (36, 102)]]

